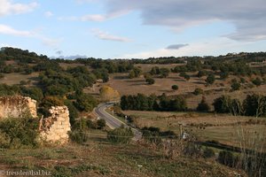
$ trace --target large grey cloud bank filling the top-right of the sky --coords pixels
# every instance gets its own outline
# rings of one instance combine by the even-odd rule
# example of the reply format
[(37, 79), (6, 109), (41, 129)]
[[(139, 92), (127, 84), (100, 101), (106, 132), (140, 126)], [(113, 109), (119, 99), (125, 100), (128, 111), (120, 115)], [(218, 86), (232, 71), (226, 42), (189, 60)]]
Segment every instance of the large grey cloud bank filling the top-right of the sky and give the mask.
[[(121, 11), (140, 12), (145, 25), (184, 29), (222, 20), (236, 31), (227, 35), (236, 41), (266, 39), (265, 0), (106, 0), (107, 14)], [(176, 31), (178, 32), (178, 31)]]

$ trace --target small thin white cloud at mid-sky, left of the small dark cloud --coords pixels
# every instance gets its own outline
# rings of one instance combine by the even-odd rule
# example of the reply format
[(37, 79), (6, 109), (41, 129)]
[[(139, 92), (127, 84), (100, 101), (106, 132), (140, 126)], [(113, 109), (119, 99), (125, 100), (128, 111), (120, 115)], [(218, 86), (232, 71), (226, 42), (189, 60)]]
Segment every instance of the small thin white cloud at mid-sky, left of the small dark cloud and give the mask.
[(129, 38), (121, 37), (118, 35), (110, 35), (107, 32), (101, 31), (99, 29), (92, 29), (91, 32), (101, 40), (115, 41), (115, 42), (130, 42)]

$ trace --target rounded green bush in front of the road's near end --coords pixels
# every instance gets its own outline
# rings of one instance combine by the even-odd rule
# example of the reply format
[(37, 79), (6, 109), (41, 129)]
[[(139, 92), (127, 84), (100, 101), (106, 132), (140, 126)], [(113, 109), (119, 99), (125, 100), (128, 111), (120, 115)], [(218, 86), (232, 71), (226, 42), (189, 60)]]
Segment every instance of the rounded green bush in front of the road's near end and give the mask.
[(118, 127), (107, 133), (107, 139), (113, 143), (129, 143), (134, 134), (131, 128)]

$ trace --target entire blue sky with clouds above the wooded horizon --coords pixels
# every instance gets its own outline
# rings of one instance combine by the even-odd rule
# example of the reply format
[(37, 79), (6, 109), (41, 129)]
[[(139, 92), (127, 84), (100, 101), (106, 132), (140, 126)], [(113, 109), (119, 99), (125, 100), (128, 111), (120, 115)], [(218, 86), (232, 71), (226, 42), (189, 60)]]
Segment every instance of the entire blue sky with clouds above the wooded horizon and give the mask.
[(0, 0), (0, 47), (53, 58), (266, 51), (265, 0)]

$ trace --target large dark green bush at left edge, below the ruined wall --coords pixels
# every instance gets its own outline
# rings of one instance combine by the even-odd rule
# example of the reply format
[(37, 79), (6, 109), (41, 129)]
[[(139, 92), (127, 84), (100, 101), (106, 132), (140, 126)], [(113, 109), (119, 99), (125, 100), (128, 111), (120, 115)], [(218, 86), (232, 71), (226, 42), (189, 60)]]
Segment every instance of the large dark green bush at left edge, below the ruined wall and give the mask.
[(38, 146), (38, 119), (9, 118), (0, 121), (0, 147), (20, 148)]

